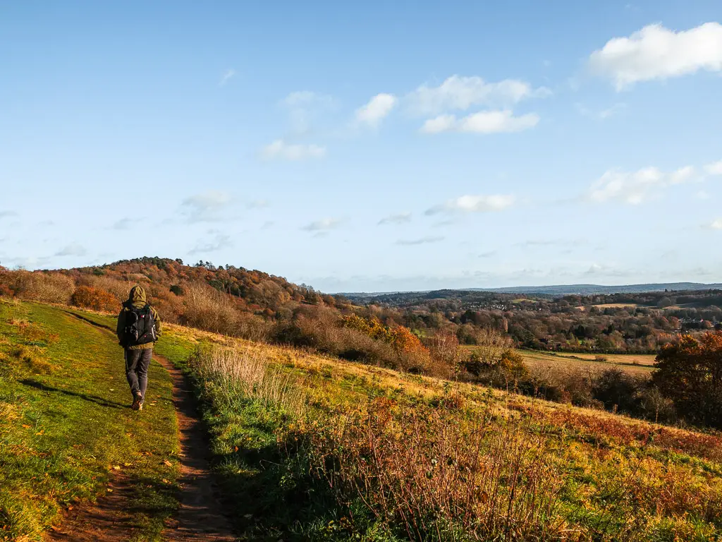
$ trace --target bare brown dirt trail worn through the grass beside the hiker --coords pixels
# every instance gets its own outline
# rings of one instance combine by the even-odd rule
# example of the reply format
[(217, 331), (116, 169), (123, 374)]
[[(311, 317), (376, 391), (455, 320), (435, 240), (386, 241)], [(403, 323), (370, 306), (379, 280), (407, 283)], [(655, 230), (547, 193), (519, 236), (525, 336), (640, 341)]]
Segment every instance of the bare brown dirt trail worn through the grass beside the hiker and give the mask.
[[(110, 331), (79, 314), (72, 314), (88, 324)], [(209, 449), (206, 432), (199, 421), (193, 392), (181, 371), (162, 356), (153, 353), (173, 378), (173, 405), (181, 433), (181, 509), (163, 533), (168, 541), (233, 542), (230, 523), (221, 512), (212, 473), (209, 468)], [(152, 387), (152, 382), (149, 382)], [(142, 415), (142, 413), (141, 413)], [(61, 525), (45, 535), (50, 542), (125, 542), (133, 536), (127, 513), (132, 495), (129, 482), (118, 475), (108, 483), (108, 494), (97, 503), (80, 506), (63, 513)]]

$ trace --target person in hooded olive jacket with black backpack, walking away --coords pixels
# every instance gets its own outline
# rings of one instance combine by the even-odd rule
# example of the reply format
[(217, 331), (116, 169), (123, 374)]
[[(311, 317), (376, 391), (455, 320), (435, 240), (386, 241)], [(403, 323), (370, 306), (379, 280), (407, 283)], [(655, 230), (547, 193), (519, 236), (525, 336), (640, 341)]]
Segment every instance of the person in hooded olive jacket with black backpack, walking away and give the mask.
[(125, 350), (126, 377), (133, 394), (131, 408), (143, 410), (153, 345), (160, 337), (160, 316), (148, 304), (142, 286), (131, 288), (128, 301), (123, 303), (121, 314), (118, 314), (116, 334), (118, 343)]

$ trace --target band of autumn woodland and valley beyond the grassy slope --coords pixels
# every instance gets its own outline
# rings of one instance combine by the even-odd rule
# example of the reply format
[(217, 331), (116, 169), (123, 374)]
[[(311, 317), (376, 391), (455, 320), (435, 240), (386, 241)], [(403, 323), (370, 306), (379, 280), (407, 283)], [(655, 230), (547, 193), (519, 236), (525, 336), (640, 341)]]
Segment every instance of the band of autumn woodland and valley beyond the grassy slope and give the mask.
[[(664, 362), (670, 352), (674, 359), (695, 359), (696, 354), (690, 358), (679, 350), (680, 337), (687, 337), (684, 344), (702, 340), (706, 345), (710, 339), (703, 337), (716, 336), (715, 292), (675, 297), (677, 303), (685, 301), (698, 308), (674, 310), (699, 310), (710, 318), (701, 320), (708, 325), (683, 329), (681, 320), (667, 312), (668, 304), (658, 300), (653, 303), (656, 308), (640, 306), (670, 298), (669, 293), (625, 294), (638, 301), (635, 306), (611, 296), (619, 303), (603, 309), (586, 304), (599, 304), (610, 296), (520, 300), (488, 292), (458, 293), (454, 298), (453, 291), (445, 291), (384, 296), (374, 304), (322, 294), (263, 272), (208, 262), (188, 266), (179, 260), (141, 258), (54, 272), (0, 270), (4, 296), (97, 311), (117, 311), (135, 283), (147, 288), (165, 322), (651, 421), (718, 427), (722, 419), (715, 410), (720, 403), (716, 354), (705, 354), (711, 360), (706, 365), (690, 362), (682, 369)], [(593, 352), (595, 363), (584, 364), (580, 358), (582, 363), (565, 364), (560, 357), (553, 366), (530, 364), (525, 356), (539, 350), (518, 350), (546, 348), (549, 352), (557, 340), (563, 341), (560, 348), (574, 348), (571, 354)], [(609, 349), (602, 348), (605, 344)], [(627, 349), (661, 353), (656, 374), (652, 376), (651, 369), (628, 370), (636, 361), (626, 366), (607, 363), (605, 355), (618, 356), (609, 352), (618, 351), (622, 344)], [(677, 382), (684, 383), (678, 386)]]

